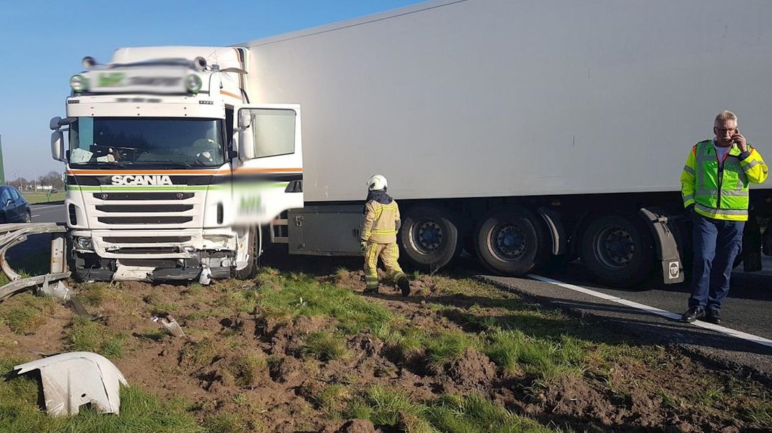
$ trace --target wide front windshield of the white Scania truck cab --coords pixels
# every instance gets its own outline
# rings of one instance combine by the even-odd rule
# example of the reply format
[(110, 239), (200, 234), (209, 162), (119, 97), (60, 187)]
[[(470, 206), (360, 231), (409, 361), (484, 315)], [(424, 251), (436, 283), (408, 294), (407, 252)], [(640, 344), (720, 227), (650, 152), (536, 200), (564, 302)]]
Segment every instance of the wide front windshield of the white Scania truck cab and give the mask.
[(69, 126), (71, 166), (215, 167), (222, 119), (79, 117)]

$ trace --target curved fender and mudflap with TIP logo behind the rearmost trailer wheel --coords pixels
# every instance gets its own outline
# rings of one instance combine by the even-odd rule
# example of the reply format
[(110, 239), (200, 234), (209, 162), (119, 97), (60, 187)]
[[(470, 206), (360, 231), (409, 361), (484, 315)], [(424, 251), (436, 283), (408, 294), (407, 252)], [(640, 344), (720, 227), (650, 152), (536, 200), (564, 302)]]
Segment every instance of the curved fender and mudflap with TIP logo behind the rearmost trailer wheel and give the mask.
[(656, 260), (662, 266), (662, 283), (678, 284), (684, 280), (683, 263), (679, 252), (675, 223), (664, 212), (642, 207), (640, 213), (654, 237)]

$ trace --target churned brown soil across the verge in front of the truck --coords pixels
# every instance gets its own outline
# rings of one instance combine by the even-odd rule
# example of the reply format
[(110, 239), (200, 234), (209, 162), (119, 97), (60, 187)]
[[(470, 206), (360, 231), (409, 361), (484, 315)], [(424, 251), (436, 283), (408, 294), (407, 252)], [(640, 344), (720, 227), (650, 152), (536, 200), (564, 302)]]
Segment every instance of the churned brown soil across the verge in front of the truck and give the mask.
[[(364, 288), (358, 270), (317, 273), (314, 279), (354, 291)], [(414, 279), (411, 297), (403, 298), (394, 287), (384, 285), (380, 294), (368, 299), (404, 317), (405, 326), (427, 332), (479, 336), (482, 328), (469, 317), (501, 314), (496, 301), (486, 303), (483, 295), (461, 289), (450, 293), (438, 287), (434, 277)], [(123, 351), (113, 362), (130, 385), (165, 400), (185, 399), (204, 425), (216, 415), (234, 414), (258, 431), (391, 431), (393, 426), (345, 415), (346, 402), (354, 395), (381, 385), (422, 402), (444, 394), (476, 394), (542, 425), (575, 431), (770, 428), (764, 424), (768, 420), (743, 417), (741, 409), (768, 407), (764, 384), (735, 378), (732, 371), (702, 364), (669, 347), (637, 347), (636, 353), (650, 350), (652, 357), (620, 357), (602, 368), (588, 364), (578, 374), (551, 378), (508, 371), (473, 344), (444, 364), (430, 365), (425, 348), (394, 350), (376, 336), (376, 330), (341, 335), (340, 357), (311, 356), (305, 349), (310, 337), (334, 330), (337, 319), (265, 317), (259, 307), (239, 310), (229, 301), (234, 290), (259, 297), (260, 287), (259, 281), (235, 280), (206, 287), (130, 282), (98, 290), (83, 286), (81, 292), (91, 300), (84, 304), (95, 321), (123, 336)], [(12, 298), (0, 308), (13, 302)], [(15, 334), (0, 324), (2, 357), (32, 360), (69, 351), (74, 313), (56, 306), (45, 315), (45, 322), (29, 335)], [(177, 318), (186, 336), (172, 337), (151, 321), (154, 315)], [(608, 337), (617, 344), (618, 336), (597, 324), (577, 321), (576, 326), (597, 334), (597, 341)], [(715, 380), (706, 382), (706, 377)], [(328, 398), (332, 386), (337, 387), (337, 398)], [(727, 402), (733, 408), (726, 408), (725, 416), (716, 415), (719, 410), (703, 410)]]

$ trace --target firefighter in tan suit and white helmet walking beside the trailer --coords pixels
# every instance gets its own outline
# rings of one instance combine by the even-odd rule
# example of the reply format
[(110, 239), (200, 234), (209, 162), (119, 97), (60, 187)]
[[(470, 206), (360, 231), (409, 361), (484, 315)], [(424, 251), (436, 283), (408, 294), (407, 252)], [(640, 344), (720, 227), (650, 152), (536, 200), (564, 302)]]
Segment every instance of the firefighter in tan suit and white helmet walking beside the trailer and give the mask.
[(402, 296), (408, 296), (410, 281), (397, 263), (399, 206), (386, 193), (387, 186), (386, 178), (380, 174), (371, 176), (367, 180), (367, 202), (364, 203), (364, 227), (362, 227), (361, 238), (366, 284), (364, 293), (378, 293), (378, 257), (380, 257), (388, 277), (402, 290)]

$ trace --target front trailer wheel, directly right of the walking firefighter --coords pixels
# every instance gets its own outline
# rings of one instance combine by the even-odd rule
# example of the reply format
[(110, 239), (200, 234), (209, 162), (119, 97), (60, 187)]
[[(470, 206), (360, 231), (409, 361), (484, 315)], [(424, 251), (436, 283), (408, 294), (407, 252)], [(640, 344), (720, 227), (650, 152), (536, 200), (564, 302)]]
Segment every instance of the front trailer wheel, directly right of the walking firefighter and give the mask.
[(402, 217), (398, 234), (405, 258), (425, 270), (438, 270), (459, 256), (462, 242), (455, 218), (434, 206), (418, 206)]

